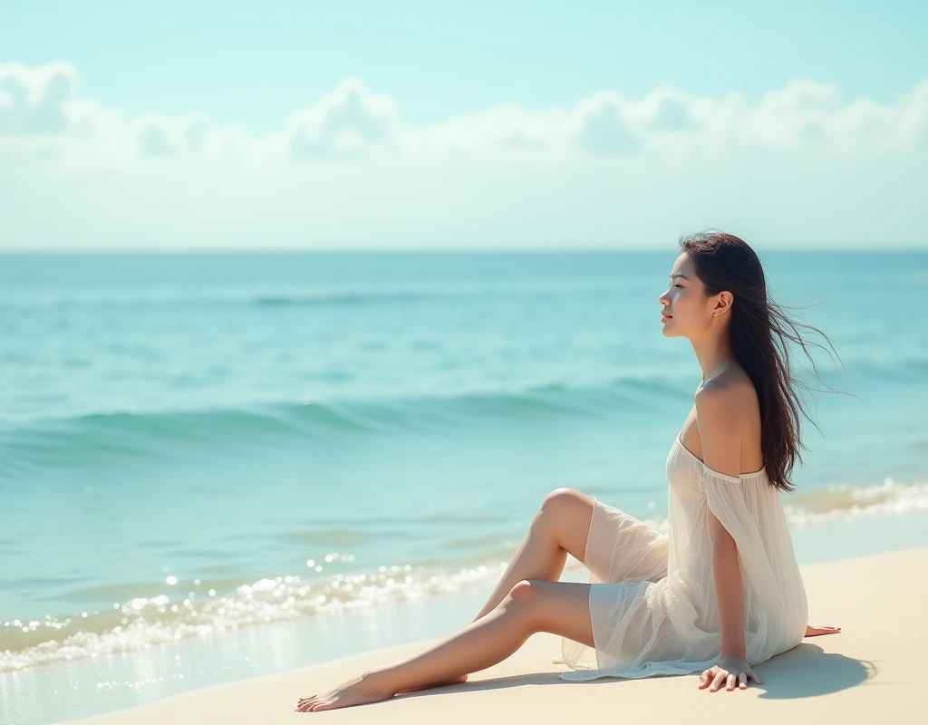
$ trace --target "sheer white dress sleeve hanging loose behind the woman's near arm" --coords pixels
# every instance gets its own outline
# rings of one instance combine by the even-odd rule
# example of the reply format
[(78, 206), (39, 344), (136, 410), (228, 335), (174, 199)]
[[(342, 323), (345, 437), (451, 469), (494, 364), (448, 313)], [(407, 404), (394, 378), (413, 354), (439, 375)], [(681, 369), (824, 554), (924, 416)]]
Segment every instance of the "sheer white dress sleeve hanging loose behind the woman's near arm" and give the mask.
[[(766, 474), (735, 477), (701, 466), (709, 509), (735, 540), (745, 598), (749, 660), (767, 641), (793, 641), (806, 628), (805, 590), (778, 490)], [(796, 591), (795, 589), (799, 589)], [(792, 589), (792, 590), (791, 590)], [(799, 634), (802, 638), (802, 634)]]

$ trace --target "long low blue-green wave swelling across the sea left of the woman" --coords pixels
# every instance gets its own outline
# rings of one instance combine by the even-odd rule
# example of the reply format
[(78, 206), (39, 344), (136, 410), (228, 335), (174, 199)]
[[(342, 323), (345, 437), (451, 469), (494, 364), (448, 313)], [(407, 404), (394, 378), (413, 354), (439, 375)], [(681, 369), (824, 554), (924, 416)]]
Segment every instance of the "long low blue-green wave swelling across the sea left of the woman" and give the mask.
[(160, 457), (164, 444), (209, 447), (288, 437), (435, 430), (538, 416), (610, 416), (652, 408), (682, 388), (664, 378), (561, 382), (522, 390), (253, 405), (236, 409), (107, 412), (67, 419), (7, 422), (0, 427), (0, 473), (72, 465), (107, 457)]

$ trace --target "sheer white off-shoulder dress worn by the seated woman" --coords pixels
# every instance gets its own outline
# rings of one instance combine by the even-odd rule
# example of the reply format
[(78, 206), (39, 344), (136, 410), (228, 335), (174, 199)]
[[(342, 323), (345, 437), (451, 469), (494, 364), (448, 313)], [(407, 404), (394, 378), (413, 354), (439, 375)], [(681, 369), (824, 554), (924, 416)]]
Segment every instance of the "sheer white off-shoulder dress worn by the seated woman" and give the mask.
[(748, 663), (765, 662), (805, 636), (806, 589), (767, 469), (718, 473), (677, 434), (666, 473), (667, 535), (594, 499), (584, 563), (596, 646), (561, 638), (561, 657), (552, 661), (571, 667), (561, 680), (683, 675), (718, 664), (709, 509), (738, 546)]

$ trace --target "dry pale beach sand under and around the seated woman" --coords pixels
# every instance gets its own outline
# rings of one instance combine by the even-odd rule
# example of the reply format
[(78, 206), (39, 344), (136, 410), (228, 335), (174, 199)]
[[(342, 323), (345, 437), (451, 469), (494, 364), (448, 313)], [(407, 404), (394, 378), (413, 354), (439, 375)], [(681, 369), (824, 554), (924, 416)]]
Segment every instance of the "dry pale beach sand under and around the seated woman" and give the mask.
[[(182, 723), (376, 722), (574, 723), (806, 722), (928, 723), (928, 548), (892, 551), (802, 567), (813, 625), (840, 634), (806, 638), (755, 667), (763, 685), (715, 693), (698, 675), (646, 680), (559, 680), (560, 638), (535, 634), (522, 648), (470, 680), (397, 695), (392, 700), (317, 713), (294, 712), (296, 700), (371, 667), (416, 654), (422, 641), (311, 667), (176, 695), (152, 705), (89, 719), (88, 725)], [(922, 572), (922, 576), (918, 575)], [(449, 632), (450, 634), (451, 632)], [(444, 638), (443, 638), (444, 639)], [(721, 718), (719, 720), (719, 718)]]

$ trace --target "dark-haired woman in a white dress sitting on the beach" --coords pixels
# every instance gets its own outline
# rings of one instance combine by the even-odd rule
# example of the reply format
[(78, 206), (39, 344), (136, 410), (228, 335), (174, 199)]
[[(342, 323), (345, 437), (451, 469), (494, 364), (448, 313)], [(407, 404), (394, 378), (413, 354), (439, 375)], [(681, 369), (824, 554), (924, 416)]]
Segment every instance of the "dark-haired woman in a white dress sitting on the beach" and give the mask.
[[(562, 680), (702, 672), (700, 689), (744, 690), (761, 684), (752, 666), (804, 636), (840, 631), (807, 625), (780, 504), (801, 460), (803, 410), (784, 340), (803, 343), (787, 328), (808, 326), (767, 299), (760, 261), (744, 241), (707, 233), (680, 247), (659, 298), (662, 324), (664, 336), (690, 340), (702, 384), (667, 457), (669, 535), (558, 489), (470, 625), (422, 654), (301, 698), (297, 710), (463, 682), (539, 631), (561, 635), (555, 662), (572, 668)], [(559, 581), (568, 553), (586, 564), (589, 583)]]

